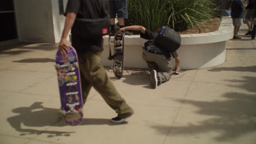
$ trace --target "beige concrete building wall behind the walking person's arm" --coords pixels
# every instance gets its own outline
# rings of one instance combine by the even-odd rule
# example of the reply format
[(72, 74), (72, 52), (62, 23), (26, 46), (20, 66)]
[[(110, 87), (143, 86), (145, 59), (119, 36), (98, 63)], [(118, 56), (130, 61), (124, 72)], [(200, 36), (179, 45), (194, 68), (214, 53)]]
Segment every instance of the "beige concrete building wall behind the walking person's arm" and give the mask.
[[(63, 0), (66, 9), (67, 0)], [(57, 0), (14, 0), (18, 38), (21, 42), (59, 43), (65, 16)]]

